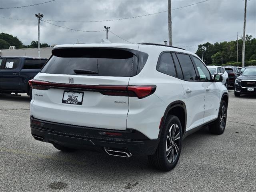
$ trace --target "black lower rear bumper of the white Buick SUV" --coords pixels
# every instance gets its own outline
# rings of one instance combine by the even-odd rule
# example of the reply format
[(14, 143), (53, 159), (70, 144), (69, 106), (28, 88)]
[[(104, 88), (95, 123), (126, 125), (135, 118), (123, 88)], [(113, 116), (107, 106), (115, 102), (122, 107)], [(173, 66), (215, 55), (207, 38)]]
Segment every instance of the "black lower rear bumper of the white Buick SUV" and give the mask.
[[(132, 156), (154, 154), (159, 139), (150, 140), (141, 132), (132, 129), (123, 131), (74, 126), (30, 118), (31, 134), (44, 142), (61, 144), (70, 148), (95, 150), (104, 149), (128, 152)], [(105, 133), (105, 134), (104, 134)], [(118, 134), (118, 135), (106, 135)]]

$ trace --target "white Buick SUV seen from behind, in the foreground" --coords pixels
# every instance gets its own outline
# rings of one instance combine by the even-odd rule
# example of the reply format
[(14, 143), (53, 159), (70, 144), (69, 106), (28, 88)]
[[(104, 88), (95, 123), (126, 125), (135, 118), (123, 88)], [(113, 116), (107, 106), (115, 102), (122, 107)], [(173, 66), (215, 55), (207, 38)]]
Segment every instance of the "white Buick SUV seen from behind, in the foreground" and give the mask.
[(198, 128), (222, 134), (228, 91), (195, 54), (158, 44), (55, 46), (30, 85), (36, 140), (62, 151), (148, 156), (176, 166), (182, 138)]

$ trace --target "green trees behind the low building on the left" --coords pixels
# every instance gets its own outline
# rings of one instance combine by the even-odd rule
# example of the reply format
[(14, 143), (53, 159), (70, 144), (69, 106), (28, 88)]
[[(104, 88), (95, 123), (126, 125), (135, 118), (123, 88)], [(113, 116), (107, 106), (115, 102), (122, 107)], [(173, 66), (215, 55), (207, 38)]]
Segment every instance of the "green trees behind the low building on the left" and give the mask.
[[(0, 49), (9, 49), (10, 46), (15, 48), (37, 48), (38, 41), (32, 41), (30, 45), (24, 45), (17, 37), (7, 33), (0, 33)], [(47, 43), (40, 43), (40, 47), (50, 47)]]

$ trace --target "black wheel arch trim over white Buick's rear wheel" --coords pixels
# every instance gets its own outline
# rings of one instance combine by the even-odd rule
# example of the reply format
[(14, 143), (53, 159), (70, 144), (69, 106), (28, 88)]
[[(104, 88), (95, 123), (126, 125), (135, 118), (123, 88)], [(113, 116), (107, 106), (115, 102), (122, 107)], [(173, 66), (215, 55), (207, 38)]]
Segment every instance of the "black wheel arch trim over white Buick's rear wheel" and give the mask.
[(184, 135), (186, 132), (186, 123), (187, 123), (186, 105), (183, 101), (178, 100), (170, 103), (167, 106), (164, 112), (164, 116), (162, 117), (162, 120), (161, 120), (158, 138), (160, 138), (160, 135), (162, 133), (162, 125), (166, 121), (166, 118), (168, 115), (175, 115), (179, 118), (180, 123), (182, 125), (182, 135)]

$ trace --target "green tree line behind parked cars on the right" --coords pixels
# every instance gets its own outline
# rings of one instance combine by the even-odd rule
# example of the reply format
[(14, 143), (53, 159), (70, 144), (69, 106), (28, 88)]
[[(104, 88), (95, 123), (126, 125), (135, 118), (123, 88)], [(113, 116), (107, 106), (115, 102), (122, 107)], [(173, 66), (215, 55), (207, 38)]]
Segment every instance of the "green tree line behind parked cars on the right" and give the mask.
[[(243, 39), (238, 40), (238, 62), (236, 62), (237, 41), (209, 42), (198, 45), (196, 54), (202, 58), (206, 65), (235, 65), (240, 66), (242, 62)], [(245, 61), (246, 65), (256, 64), (256, 38), (252, 35), (245, 37)], [(252, 62), (253, 61), (253, 62)]]

